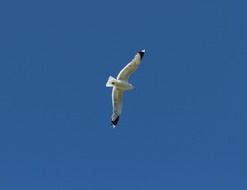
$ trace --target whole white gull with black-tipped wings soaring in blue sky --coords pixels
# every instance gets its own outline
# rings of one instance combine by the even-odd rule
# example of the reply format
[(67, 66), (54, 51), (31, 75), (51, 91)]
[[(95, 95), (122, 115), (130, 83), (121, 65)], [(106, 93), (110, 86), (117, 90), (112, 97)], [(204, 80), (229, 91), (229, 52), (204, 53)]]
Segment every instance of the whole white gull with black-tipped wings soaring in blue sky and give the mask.
[(130, 75), (138, 68), (145, 54), (145, 50), (139, 51), (135, 57), (119, 72), (117, 78), (109, 76), (106, 87), (112, 87), (112, 127), (115, 128), (122, 113), (123, 92), (132, 90), (134, 86), (128, 82)]

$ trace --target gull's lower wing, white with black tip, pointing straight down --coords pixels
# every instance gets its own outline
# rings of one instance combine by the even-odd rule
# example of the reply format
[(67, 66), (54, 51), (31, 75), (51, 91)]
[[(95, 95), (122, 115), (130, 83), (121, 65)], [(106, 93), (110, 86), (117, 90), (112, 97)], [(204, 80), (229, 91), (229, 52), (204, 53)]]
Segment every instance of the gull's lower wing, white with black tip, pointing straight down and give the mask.
[(120, 90), (116, 87), (112, 89), (112, 124), (114, 126), (117, 125), (119, 117), (122, 112), (122, 105), (123, 105), (123, 90)]

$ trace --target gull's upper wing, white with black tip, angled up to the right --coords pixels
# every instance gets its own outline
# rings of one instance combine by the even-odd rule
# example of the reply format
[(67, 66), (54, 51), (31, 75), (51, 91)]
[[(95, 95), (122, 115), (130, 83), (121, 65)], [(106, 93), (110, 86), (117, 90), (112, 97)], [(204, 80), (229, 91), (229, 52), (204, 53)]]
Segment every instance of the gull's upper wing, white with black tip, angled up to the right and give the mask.
[(128, 81), (130, 75), (135, 72), (141, 63), (145, 50), (139, 51), (135, 57), (119, 72), (117, 79)]

